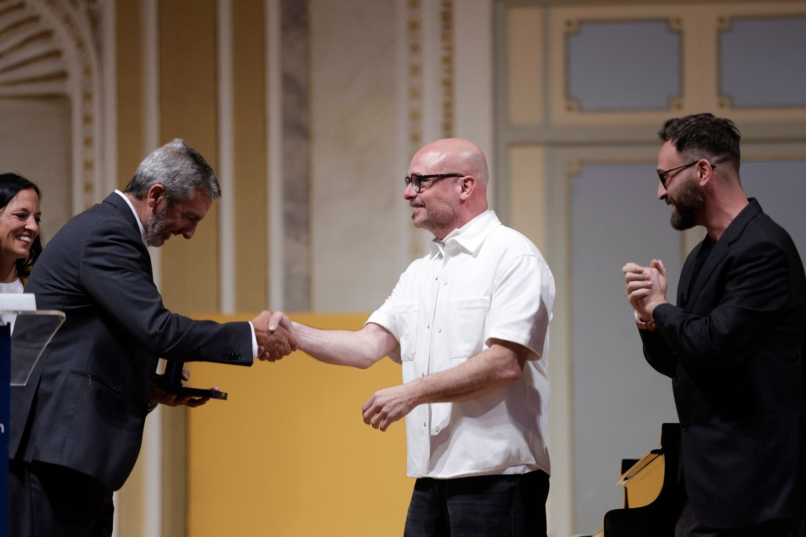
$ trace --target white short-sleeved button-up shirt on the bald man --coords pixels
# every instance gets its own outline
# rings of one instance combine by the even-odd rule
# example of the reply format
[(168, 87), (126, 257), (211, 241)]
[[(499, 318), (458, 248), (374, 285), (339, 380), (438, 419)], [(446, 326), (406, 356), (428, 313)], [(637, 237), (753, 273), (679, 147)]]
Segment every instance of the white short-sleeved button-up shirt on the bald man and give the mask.
[(415, 260), (368, 319), (390, 331), (403, 381), (462, 364), (490, 339), (532, 352), (521, 378), (480, 398), (415, 407), (406, 416), (409, 477), (550, 472), (546, 449), (548, 323), (554, 277), (529, 239), (492, 210)]

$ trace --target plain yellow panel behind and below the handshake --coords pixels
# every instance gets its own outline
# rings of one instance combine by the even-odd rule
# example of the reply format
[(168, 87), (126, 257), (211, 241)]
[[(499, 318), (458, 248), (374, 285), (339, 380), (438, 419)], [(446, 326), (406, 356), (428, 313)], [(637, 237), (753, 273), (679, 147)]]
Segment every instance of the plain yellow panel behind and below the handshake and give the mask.
[[(293, 318), (356, 330), (367, 315)], [(405, 425), (381, 433), (361, 418), (372, 393), (401, 383), (399, 365), (384, 358), (360, 370), (295, 352), (251, 368), (191, 370), (192, 385), (220, 385), (230, 398), (189, 412), (188, 535), (402, 534), (414, 482)]]

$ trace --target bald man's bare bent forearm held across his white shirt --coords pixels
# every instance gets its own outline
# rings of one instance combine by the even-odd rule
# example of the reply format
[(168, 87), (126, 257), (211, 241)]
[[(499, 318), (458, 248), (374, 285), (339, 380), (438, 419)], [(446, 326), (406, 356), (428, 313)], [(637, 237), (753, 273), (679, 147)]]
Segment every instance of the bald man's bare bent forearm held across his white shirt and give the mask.
[(418, 378), (407, 386), (417, 405), (467, 401), (517, 381), (525, 361), (494, 345), (455, 368)]

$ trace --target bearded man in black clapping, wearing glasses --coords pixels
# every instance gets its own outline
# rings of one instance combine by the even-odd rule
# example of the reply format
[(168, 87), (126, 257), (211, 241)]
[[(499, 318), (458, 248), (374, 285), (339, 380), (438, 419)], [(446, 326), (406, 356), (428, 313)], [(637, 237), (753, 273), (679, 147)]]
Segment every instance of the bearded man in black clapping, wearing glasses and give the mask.
[(644, 356), (672, 379), (682, 482), (675, 535), (796, 535), (804, 502), (806, 277), (786, 231), (739, 181), (739, 131), (696, 114), (659, 132), (671, 225), (708, 232), (677, 305), (660, 260), (625, 264)]

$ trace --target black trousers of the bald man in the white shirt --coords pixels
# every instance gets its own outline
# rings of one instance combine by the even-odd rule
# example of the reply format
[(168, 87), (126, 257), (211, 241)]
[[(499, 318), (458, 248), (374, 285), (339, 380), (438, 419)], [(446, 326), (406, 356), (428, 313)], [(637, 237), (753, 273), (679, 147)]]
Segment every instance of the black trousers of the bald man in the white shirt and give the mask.
[(549, 477), (505, 476), (415, 481), (405, 537), (546, 537)]

